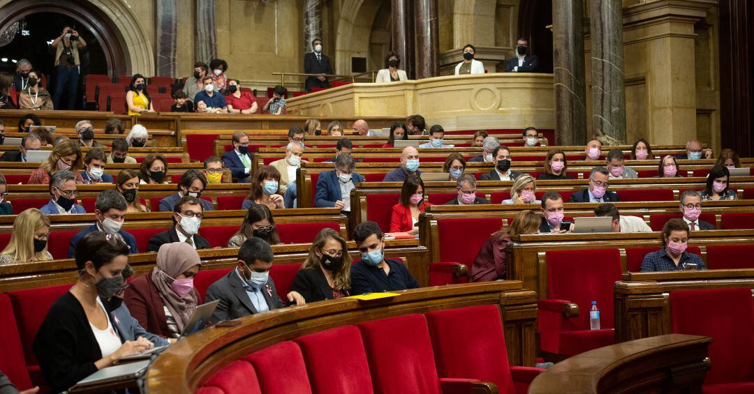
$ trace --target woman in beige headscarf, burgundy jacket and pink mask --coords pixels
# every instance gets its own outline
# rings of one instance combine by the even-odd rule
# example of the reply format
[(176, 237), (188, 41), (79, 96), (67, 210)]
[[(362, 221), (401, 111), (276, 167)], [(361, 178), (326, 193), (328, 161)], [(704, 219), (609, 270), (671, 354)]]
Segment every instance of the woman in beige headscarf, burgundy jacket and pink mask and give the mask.
[(201, 268), (196, 250), (185, 242), (165, 243), (157, 252), (157, 267), (131, 281), (124, 301), (131, 315), (148, 332), (178, 338), (201, 297), (194, 277)]

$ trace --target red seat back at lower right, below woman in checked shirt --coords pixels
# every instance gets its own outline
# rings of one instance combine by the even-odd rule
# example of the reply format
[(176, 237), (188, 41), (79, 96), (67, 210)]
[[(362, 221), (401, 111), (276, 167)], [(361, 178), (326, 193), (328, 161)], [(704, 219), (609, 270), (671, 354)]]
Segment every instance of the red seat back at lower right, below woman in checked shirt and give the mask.
[(712, 369), (704, 383), (754, 380), (754, 303), (751, 289), (670, 292), (673, 332), (705, 335)]

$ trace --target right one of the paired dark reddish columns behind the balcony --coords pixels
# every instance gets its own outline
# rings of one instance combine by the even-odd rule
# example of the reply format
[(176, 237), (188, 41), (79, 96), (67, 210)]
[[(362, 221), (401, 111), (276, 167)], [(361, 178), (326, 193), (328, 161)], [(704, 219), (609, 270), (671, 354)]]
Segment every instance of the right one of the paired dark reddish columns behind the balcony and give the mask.
[(440, 75), (437, 0), (416, 0), (416, 79)]

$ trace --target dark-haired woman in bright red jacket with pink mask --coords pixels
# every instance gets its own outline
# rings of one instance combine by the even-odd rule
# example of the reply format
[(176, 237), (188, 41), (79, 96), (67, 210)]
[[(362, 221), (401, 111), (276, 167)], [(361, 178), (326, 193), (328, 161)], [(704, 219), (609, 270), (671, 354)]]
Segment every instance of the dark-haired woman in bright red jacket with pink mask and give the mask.
[(424, 200), (424, 190), (424, 182), (418, 176), (412, 175), (403, 181), (400, 198), (393, 206), (393, 214), (390, 218), (391, 233), (419, 234), (417, 227), (419, 213), (432, 205)]

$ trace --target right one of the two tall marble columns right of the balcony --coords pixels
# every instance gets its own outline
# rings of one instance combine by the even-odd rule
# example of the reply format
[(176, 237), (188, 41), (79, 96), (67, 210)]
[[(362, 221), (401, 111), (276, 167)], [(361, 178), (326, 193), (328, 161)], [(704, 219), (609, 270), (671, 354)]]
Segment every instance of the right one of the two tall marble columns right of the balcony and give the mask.
[(621, 0), (590, 0), (592, 138), (626, 144), (626, 92)]

